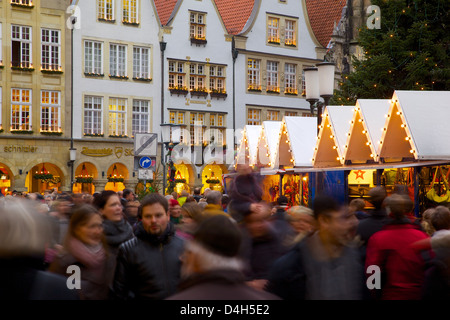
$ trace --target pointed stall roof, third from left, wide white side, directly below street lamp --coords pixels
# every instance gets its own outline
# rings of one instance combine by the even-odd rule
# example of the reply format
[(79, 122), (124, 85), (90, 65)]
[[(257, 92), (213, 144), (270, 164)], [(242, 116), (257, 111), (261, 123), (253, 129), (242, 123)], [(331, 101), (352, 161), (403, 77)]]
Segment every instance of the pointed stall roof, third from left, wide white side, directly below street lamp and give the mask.
[(311, 117), (284, 117), (276, 165), (311, 167), (317, 137), (317, 120)]

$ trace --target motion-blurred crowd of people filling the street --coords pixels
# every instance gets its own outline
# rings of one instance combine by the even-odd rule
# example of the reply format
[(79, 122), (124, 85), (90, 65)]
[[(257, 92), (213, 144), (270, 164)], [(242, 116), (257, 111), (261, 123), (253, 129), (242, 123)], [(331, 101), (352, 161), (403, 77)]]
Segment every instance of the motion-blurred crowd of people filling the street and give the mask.
[(322, 194), (311, 208), (267, 203), (261, 190), (244, 168), (228, 194), (2, 197), (0, 299), (450, 298), (448, 207), (419, 219), (383, 187), (370, 210)]

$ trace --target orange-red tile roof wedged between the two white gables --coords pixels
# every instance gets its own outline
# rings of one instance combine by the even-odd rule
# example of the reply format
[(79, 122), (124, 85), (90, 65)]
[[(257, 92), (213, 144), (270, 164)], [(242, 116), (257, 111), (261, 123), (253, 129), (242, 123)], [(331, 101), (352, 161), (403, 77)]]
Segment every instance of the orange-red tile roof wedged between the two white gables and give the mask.
[(227, 32), (238, 34), (247, 23), (255, 0), (215, 0)]

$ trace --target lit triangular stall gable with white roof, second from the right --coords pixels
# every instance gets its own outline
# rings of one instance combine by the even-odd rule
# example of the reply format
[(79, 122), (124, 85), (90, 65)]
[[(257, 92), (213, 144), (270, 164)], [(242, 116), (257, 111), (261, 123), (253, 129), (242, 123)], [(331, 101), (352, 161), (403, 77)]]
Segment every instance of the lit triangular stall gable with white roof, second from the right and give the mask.
[(379, 141), (389, 110), (389, 99), (359, 99), (344, 147), (345, 163), (367, 163), (378, 160)]

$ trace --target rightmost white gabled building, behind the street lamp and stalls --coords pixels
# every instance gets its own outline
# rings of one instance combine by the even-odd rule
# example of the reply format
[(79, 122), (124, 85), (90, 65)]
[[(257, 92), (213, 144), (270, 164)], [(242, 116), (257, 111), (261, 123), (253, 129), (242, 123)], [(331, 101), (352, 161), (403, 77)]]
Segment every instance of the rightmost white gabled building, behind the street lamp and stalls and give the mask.
[[(224, 11), (234, 10), (233, 1)], [(225, 9), (227, 2), (228, 8)], [(236, 127), (281, 121), (283, 116), (310, 116), (304, 97), (303, 68), (323, 61), (303, 1), (249, 1), (245, 24), (230, 33), (236, 43)]]

